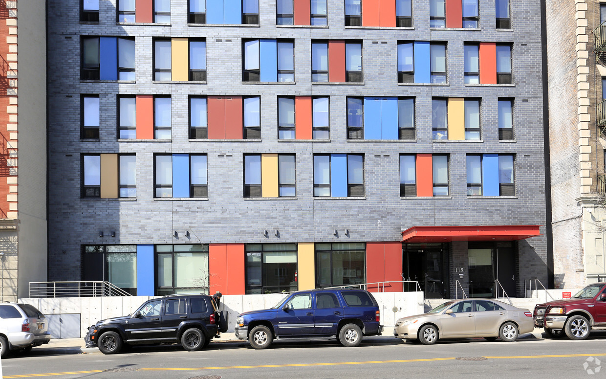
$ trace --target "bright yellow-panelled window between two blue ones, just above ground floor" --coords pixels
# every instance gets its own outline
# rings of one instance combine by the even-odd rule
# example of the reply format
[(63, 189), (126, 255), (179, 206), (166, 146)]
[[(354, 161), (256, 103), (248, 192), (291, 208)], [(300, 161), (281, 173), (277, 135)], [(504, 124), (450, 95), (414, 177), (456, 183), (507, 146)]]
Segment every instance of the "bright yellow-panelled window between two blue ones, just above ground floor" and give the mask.
[(244, 197), (296, 196), (294, 154), (245, 154)]

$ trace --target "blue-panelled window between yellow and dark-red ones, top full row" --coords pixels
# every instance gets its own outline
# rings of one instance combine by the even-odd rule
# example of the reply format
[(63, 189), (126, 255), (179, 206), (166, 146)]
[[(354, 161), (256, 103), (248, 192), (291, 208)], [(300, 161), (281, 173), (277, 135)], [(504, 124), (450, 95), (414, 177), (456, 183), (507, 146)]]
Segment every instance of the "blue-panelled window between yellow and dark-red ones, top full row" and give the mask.
[[(283, 39), (244, 41), (245, 82), (295, 81), (295, 43)], [(277, 62), (277, 65), (276, 65)]]

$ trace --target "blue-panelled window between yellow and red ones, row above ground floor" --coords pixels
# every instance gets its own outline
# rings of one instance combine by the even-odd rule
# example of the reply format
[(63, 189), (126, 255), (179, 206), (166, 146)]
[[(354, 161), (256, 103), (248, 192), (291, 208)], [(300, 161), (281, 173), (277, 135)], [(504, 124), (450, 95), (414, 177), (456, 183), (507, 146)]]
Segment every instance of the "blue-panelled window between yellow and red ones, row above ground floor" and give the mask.
[(364, 155), (314, 155), (313, 195), (315, 197), (364, 196)]

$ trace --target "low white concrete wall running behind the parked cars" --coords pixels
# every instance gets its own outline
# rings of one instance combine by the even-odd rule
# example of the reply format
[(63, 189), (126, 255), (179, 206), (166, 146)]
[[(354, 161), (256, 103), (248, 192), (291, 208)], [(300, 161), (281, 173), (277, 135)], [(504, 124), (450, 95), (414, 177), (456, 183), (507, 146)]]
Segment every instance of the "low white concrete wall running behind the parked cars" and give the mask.
[[(233, 332), (236, 317), (242, 312), (270, 308), (285, 296), (282, 293), (224, 295), (220, 309), (228, 311), (228, 332)], [(382, 292), (373, 296), (379, 303), (381, 323), (385, 326), (393, 326), (398, 318), (424, 312), (422, 292)], [(47, 316), (53, 338), (83, 338), (88, 327), (97, 321), (131, 314), (150, 298), (153, 297), (22, 298), (19, 302), (32, 304)]]

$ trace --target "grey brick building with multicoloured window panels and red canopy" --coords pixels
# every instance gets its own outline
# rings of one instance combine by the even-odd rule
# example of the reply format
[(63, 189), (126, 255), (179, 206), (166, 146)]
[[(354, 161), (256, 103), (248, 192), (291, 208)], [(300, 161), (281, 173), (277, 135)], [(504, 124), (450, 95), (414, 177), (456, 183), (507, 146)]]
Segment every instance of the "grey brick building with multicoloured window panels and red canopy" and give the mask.
[(541, 45), (539, 1), (49, 0), (48, 280), (547, 284)]

